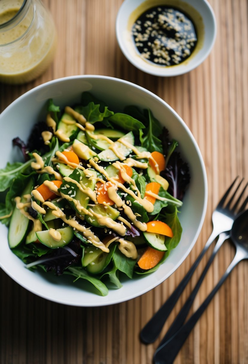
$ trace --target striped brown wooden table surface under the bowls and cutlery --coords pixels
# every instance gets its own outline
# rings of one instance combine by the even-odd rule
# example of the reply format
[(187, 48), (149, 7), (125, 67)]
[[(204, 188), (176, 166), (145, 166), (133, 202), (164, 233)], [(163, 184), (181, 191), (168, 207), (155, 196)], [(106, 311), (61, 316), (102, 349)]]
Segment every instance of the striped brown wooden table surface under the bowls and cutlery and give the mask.
[[(46, 81), (77, 74), (122, 78), (154, 92), (184, 119), (204, 158), (208, 207), (200, 236), (183, 264), (163, 284), (131, 301), (101, 308), (49, 302), (0, 272), (0, 363), (145, 364), (159, 340), (145, 346), (139, 331), (179, 284), (211, 233), (211, 215), (236, 175), (248, 180), (247, 0), (211, 0), (217, 19), (215, 46), (188, 74), (159, 78), (133, 67), (115, 37), (122, 0), (45, 0), (58, 32), (55, 60), (43, 76), (22, 86), (0, 84), (0, 111)], [(203, 270), (204, 257), (177, 302), (172, 323)], [(226, 242), (217, 254), (191, 313), (231, 262)], [(181, 349), (175, 363), (248, 363), (248, 264), (241, 262), (221, 287)]]

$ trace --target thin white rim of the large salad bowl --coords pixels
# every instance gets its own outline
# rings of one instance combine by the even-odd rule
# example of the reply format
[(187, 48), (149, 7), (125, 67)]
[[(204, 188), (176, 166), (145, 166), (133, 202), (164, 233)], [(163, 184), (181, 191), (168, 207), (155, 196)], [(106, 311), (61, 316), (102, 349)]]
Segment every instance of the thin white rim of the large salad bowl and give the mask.
[(197, 227), (197, 230), (195, 232), (195, 236), (191, 242), (191, 244), (189, 245), (189, 248), (187, 249), (187, 251), (185, 252), (185, 254), (183, 256), (181, 256), (180, 260), (177, 262), (177, 264), (175, 264), (175, 266), (173, 266), (173, 268), (160, 280), (156, 281), (155, 284), (153, 284), (152, 286), (148, 286), (147, 288), (144, 288), (143, 290), (139, 291), (138, 293), (132, 293), (129, 296), (125, 296), (124, 298), (115, 298), (112, 299), (111, 301), (99, 301), (97, 304), (93, 303), (84, 303), (82, 302), (82, 304), (78, 304), (77, 302), (72, 302), (69, 300), (69, 297), (67, 299), (65, 299), (64, 301), (61, 301), (61, 299), (56, 299), (56, 297), (48, 297), (46, 296), (44, 293), (38, 292), (36, 289), (32, 289), (28, 286), (28, 284), (23, 283), (19, 280), (18, 277), (14, 276), (11, 272), (8, 271), (7, 268), (5, 268), (3, 266), (3, 264), (0, 261), (0, 267), (4, 270), (5, 273), (8, 274), (9, 277), (11, 277), (15, 282), (17, 282), (18, 284), (20, 284), (20, 286), (22, 286), (23, 288), (27, 289), (29, 292), (32, 292), (34, 294), (36, 294), (39, 297), (45, 298), (49, 301), (52, 302), (56, 302), (56, 303), (60, 303), (60, 304), (65, 304), (65, 305), (70, 305), (70, 306), (77, 306), (77, 307), (100, 307), (100, 306), (108, 306), (108, 305), (112, 305), (112, 304), (119, 304), (121, 302), (125, 302), (128, 300), (131, 300), (133, 298), (139, 297), (141, 295), (143, 295), (144, 293), (149, 292), (150, 290), (152, 290), (153, 288), (155, 288), (156, 286), (160, 285), (162, 282), (164, 282), (169, 276), (171, 276), (176, 270), (177, 268), (184, 262), (184, 260), (187, 258), (187, 256), (189, 255), (189, 253), (191, 252), (193, 246), (195, 245), (197, 238), (199, 237), (201, 228), (203, 226), (203, 222), (205, 219), (205, 214), (206, 214), (206, 210), (207, 210), (207, 199), (208, 199), (208, 183), (207, 183), (207, 172), (205, 169), (205, 164), (203, 161), (203, 157), (201, 155), (200, 152), (200, 148), (197, 145), (197, 142), (195, 140), (195, 138), (193, 137), (193, 134), (191, 132), (191, 130), (189, 129), (189, 127), (187, 126), (187, 124), (183, 121), (183, 119), (177, 114), (177, 112), (167, 104), (167, 102), (165, 102), (163, 99), (161, 99), (159, 96), (157, 96), (156, 94), (154, 94), (153, 92), (145, 89), (144, 87), (141, 87), (139, 85), (136, 85), (132, 82), (123, 80), (123, 79), (119, 79), (119, 78), (115, 78), (115, 77), (111, 77), (111, 76), (103, 76), (103, 75), (74, 75), (74, 76), (66, 76), (66, 77), (62, 77), (62, 78), (58, 78), (58, 79), (54, 79), (48, 82), (45, 82), (43, 84), (40, 84), (34, 88), (32, 88), (31, 90), (25, 92), (23, 95), (19, 96), (17, 99), (15, 99), (11, 104), (9, 104), (7, 106), (7, 108), (5, 108), (5, 110), (3, 110), (0, 114), (0, 123), (1, 123), (1, 119), (3, 118), (3, 116), (8, 112), (8, 110), (10, 108), (12, 108), (13, 106), (15, 106), (16, 103), (20, 102), (20, 100), (26, 98), (29, 94), (32, 94), (35, 91), (38, 90), (42, 90), (43, 88), (51, 85), (51, 84), (59, 84), (60, 82), (64, 82), (67, 80), (75, 80), (75, 79), (103, 79), (103, 80), (112, 80), (114, 82), (119, 82), (119, 83), (124, 83), (127, 84), (128, 86), (131, 86), (133, 88), (136, 88), (142, 92), (145, 92), (146, 94), (148, 94), (149, 96), (152, 96), (152, 98), (155, 98), (157, 101), (159, 101), (160, 103), (163, 104), (163, 106), (165, 106), (166, 108), (169, 109), (169, 111), (172, 112), (172, 114), (175, 115), (175, 117), (177, 118), (177, 120), (183, 124), (184, 128), (186, 129), (189, 137), (191, 138), (191, 141), (196, 149), (197, 152), (197, 156), (199, 158), (200, 161), (200, 165), (201, 165), (201, 171), (203, 174), (203, 187), (204, 187), (204, 203), (203, 203), (203, 210), (201, 212), (201, 219), (200, 219), (200, 223)]

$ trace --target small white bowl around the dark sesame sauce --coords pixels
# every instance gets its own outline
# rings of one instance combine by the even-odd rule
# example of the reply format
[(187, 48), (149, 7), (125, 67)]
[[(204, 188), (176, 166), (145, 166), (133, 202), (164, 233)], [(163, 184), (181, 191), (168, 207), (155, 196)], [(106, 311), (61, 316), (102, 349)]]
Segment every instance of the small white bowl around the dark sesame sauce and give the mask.
[[(192, 55), (175, 66), (159, 66), (140, 57), (132, 40), (131, 29), (136, 19), (149, 8), (171, 5), (188, 14), (196, 26), (198, 41)], [(206, 0), (125, 0), (116, 18), (116, 37), (124, 56), (141, 71), (155, 76), (177, 76), (199, 66), (209, 55), (216, 37), (216, 20)]]

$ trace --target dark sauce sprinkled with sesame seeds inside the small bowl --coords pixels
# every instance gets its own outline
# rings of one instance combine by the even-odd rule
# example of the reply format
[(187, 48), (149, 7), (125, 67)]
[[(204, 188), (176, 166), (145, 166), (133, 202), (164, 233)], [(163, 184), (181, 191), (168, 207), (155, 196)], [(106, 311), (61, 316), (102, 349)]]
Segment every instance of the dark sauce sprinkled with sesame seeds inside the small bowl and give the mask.
[(191, 19), (169, 6), (145, 11), (132, 27), (132, 36), (141, 58), (159, 66), (174, 66), (187, 59), (197, 43)]

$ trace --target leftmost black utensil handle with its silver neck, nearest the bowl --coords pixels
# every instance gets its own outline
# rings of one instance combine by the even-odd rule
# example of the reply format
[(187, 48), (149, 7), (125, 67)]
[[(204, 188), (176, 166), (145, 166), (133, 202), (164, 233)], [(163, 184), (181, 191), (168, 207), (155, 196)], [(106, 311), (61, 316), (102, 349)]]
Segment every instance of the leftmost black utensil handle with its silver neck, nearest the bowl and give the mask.
[(148, 323), (143, 327), (143, 329), (140, 332), (140, 340), (144, 344), (151, 344), (153, 343), (153, 341), (157, 339), (157, 337), (160, 334), (160, 331), (164, 326), (165, 321), (167, 320), (169, 314), (171, 313), (181, 293), (187, 286), (190, 278), (195, 272), (204, 254), (207, 252), (209, 246), (212, 244), (212, 242), (215, 240), (217, 236), (218, 234), (216, 235), (216, 233), (213, 231), (210, 237), (208, 238), (208, 241), (205, 244), (203, 250), (201, 251), (199, 256), (196, 258), (196, 261), (189, 269), (188, 273), (181, 280), (181, 282), (174, 290), (174, 292), (171, 294), (171, 296), (167, 299), (167, 301), (164, 302), (164, 304), (160, 307), (160, 309), (152, 316), (151, 320), (149, 320)]

